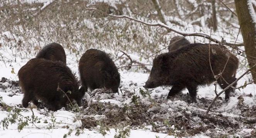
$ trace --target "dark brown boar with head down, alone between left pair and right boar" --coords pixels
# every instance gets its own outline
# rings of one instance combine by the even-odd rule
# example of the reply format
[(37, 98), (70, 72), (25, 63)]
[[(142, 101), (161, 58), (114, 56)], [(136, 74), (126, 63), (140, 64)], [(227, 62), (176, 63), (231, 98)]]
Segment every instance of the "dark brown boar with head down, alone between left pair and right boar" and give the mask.
[(120, 74), (115, 63), (105, 52), (97, 49), (86, 50), (79, 61), (79, 72), (82, 90), (105, 87), (114, 93), (118, 92)]

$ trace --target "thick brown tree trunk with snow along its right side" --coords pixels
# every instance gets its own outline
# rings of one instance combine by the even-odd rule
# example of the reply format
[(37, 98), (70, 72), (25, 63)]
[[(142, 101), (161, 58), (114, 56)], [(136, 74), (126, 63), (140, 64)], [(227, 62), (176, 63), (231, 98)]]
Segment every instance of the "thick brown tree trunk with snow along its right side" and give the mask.
[[(244, 49), (249, 67), (256, 64), (256, 17), (252, 3), (249, 0), (235, 0), (236, 13), (241, 27)], [(256, 68), (251, 70), (253, 80), (256, 80)], [(254, 82), (256, 83), (256, 82)]]

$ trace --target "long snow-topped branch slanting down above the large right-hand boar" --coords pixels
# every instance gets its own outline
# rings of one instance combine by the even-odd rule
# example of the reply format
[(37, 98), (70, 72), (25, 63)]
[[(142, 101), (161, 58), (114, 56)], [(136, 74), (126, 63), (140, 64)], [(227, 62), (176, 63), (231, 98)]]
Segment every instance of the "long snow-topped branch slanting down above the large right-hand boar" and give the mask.
[[(138, 19), (135, 19), (135, 18), (132, 18), (132, 17), (129, 17), (127, 15), (111, 15), (111, 14), (108, 14), (108, 13), (105, 13), (101, 10), (98, 10), (97, 8), (85, 8), (86, 10), (96, 10), (98, 12), (101, 12), (103, 14), (106, 14), (110, 17), (115, 17), (115, 18), (127, 18), (127, 19), (130, 19), (130, 20), (133, 20), (133, 21), (136, 21), (136, 22), (139, 22), (139, 23), (142, 23), (144, 25), (149, 25), (149, 26), (156, 26), (156, 27), (162, 27), (162, 28), (166, 28), (166, 30), (169, 30), (169, 31), (173, 31), (175, 33), (178, 33), (180, 35), (183, 35), (183, 36), (195, 36), (195, 37), (203, 37), (203, 38), (206, 38), (212, 42), (215, 42), (215, 43), (218, 43), (218, 44), (223, 44), (221, 43), (221, 41), (215, 39), (215, 38), (211, 38), (210, 35), (206, 34), (206, 33), (185, 33), (185, 32), (181, 32), (181, 31), (177, 31), (177, 30), (174, 30), (172, 29), (170, 26), (162, 23), (162, 22), (156, 22), (156, 23), (147, 23), (147, 22), (144, 22), (144, 21), (141, 21), (141, 20), (138, 20)], [(228, 45), (228, 46), (243, 46), (244, 44), (243, 43), (239, 43), (239, 44), (235, 44), (235, 43), (225, 43), (225, 45)]]

